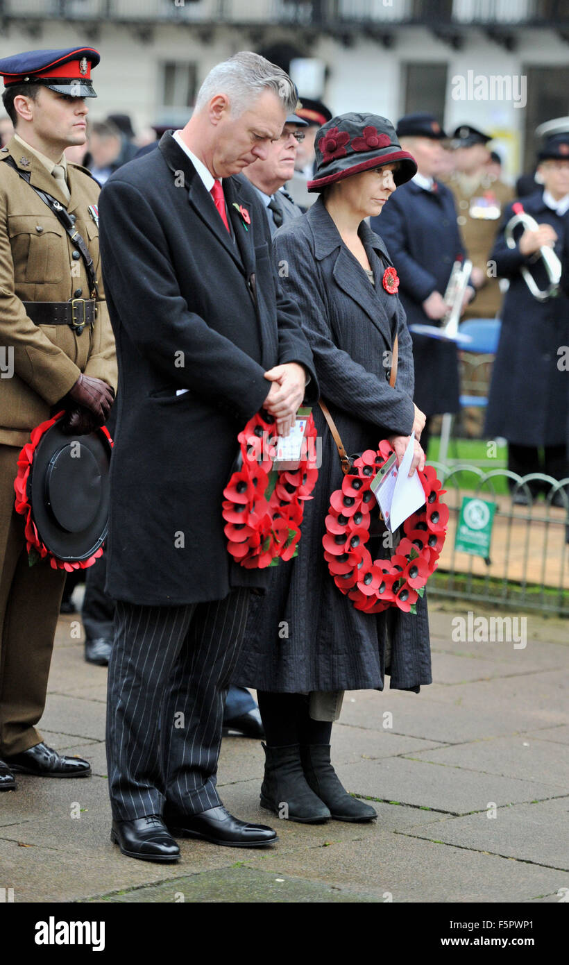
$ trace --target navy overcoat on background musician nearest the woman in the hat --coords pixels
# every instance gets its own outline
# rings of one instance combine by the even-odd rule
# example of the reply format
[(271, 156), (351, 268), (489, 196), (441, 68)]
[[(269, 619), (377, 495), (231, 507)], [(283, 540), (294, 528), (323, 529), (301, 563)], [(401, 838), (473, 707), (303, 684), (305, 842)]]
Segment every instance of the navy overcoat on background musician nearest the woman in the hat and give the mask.
[[(399, 297), (407, 324), (438, 325), (427, 317), (422, 302), (433, 291), (447, 289), (457, 255), (465, 255), (456, 222), (452, 192), (436, 181), (425, 191), (414, 180), (401, 184), (371, 227), (381, 232), (399, 276)], [(456, 345), (411, 333), (415, 359), (415, 401), (425, 415), (458, 412)]]

